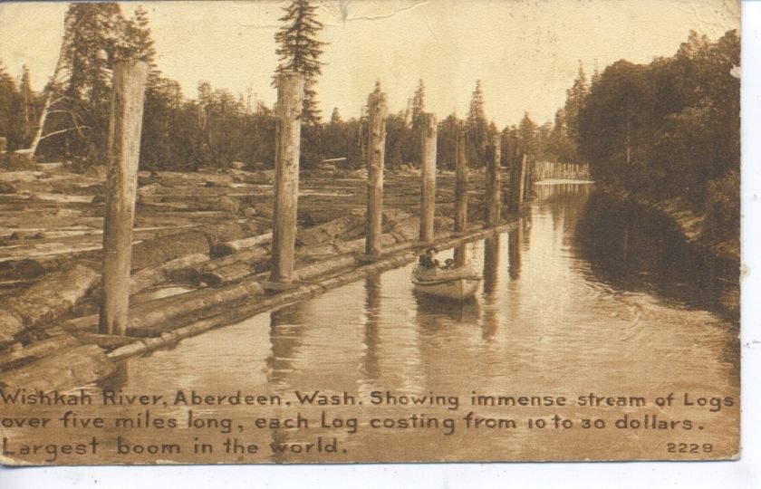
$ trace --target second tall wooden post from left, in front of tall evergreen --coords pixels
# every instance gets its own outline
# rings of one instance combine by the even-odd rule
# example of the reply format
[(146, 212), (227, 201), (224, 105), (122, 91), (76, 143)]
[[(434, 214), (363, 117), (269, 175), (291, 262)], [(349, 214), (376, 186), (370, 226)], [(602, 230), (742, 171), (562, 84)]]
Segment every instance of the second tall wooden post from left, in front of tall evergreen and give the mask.
[(273, 282), (290, 282), (294, 276), (302, 102), (303, 76), (282, 73), (277, 79), (275, 105), (275, 206), (270, 270)]

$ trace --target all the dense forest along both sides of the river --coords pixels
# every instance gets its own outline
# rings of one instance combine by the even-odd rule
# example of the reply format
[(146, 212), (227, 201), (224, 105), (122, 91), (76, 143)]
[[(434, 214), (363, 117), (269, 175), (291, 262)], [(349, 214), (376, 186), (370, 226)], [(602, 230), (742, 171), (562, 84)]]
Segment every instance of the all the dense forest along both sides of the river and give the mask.
[[(319, 33), (322, 24), (313, 10), (306, 0), (294, 1), (275, 35), (281, 59), (300, 63), (281, 64), (275, 72), (300, 69), (308, 82), (302, 166), (345, 158), (338, 165), (361, 168), (361, 117), (344, 119), (333, 109), (323, 120), (319, 108), (315, 81), (324, 43), (313, 41), (312, 58), (300, 62), (287, 49), (294, 35), (303, 40)], [(302, 30), (294, 32), (296, 28)], [(439, 120), (438, 167), (453, 167), (461, 126), (467, 129), (468, 162), (475, 168), (483, 165), (486, 143), (499, 131), (506, 167), (523, 154), (540, 161), (587, 162), (597, 180), (654, 198), (684, 197), (694, 211), (708, 216), (718, 237), (737, 236), (740, 82), (732, 70), (739, 65), (739, 46), (735, 31), (715, 42), (693, 32), (673, 56), (649, 64), (621, 60), (602, 72), (595, 69), (590, 77), (580, 63), (564, 106), (553, 121), (541, 125), (525, 113), (518, 124), (498, 129), (486, 115), (483, 87), (476, 81), (467, 116)], [(33, 90), (28, 70), (16, 80), (0, 60), (0, 137), (6, 148), (35, 158), (101, 163), (110, 70), (121, 56), (151, 64), (142, 168), (193, 171), (227, 168), (235, 161), (248, 168), (273, 168), (272, 109), (252, 100), (250, 92), (235, 94), (204, 81), (197, 83), (195, 97), (188, 97), (156, 65), (147, 12), (138, 7), (127, 17), (119, 5), (108, 3), (70, 6), (59, 61), (43, 91)], [(387, 167), (419, 164), (425, 101), (421, 80), (405, 109), (390, 114)]]

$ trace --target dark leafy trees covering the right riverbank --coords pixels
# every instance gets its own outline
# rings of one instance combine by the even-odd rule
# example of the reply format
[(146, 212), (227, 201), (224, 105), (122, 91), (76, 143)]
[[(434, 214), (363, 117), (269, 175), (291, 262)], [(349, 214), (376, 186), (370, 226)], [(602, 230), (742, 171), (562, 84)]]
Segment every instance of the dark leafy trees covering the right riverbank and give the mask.
[(669, 58), (615, 62), (592, 79), (577, 142), (613, 195), (669, 216), (690, 242), (739, 262), (737, 32), (695, 32)]

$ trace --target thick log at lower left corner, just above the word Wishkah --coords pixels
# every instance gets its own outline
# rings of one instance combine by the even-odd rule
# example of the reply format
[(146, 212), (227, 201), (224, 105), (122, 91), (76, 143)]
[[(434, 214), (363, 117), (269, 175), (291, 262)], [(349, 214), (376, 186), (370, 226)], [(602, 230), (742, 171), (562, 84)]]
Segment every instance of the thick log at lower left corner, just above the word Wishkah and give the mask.
[(103, 350), (95, 345), (82, 345), (0, 374), (0, 385), (27, 391), (66, 390), (108, 377), (113, 370), (113, 363)]

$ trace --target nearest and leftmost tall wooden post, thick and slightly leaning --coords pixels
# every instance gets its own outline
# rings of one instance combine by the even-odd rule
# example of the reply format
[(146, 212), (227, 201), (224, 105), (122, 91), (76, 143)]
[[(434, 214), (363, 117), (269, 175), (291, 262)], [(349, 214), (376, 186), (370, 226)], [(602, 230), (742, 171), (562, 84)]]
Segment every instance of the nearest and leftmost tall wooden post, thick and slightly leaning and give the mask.
[(130, 260), (138, 190), (140, 132), (148, 63), (116, 62), (109, 112), (103, 276), (98, 330), (123, 335), (130, 307)]

